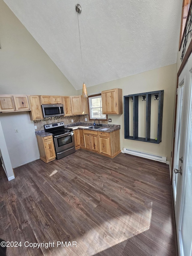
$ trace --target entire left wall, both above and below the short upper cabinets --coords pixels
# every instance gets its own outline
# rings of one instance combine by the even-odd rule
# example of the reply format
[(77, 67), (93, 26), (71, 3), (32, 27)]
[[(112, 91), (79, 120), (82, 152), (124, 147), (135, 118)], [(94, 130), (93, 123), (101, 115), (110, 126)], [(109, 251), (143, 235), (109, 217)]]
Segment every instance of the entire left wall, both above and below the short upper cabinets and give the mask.
[[(32, 35), (0, 0), (0, 94), (77, 95)], [(12, 167), (39, 158), (29, 112), (0, 113)], [(15, 133), (14, 129), (19, 133)]]

